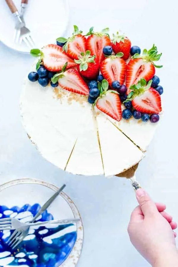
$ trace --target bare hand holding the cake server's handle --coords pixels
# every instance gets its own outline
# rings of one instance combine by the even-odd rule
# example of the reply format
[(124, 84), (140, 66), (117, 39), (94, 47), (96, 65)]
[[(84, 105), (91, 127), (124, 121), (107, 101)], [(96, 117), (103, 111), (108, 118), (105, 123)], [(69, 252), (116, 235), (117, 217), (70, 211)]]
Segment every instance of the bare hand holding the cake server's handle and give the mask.
[[(173, 231), (177, 224), (164, 211), (166, 206), (155, 204), (143, 189), (136, 191), (136, 198), (139, 206), (132, 212), (128, 225), (132, 244), (152, 266), (172, 266), (166, 264), (169, 257), (177, 258), (174, 266), (178, 266), (176, 233)], [(163, 264), (160, 257), (164, 260)]]

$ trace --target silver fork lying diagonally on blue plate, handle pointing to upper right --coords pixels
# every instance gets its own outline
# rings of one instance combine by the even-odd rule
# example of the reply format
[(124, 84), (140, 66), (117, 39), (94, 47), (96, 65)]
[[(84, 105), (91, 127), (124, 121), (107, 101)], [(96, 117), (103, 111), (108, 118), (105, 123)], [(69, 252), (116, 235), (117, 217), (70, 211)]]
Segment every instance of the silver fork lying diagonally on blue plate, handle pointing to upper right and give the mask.
[[(57, 192), (42, 206), (39, 212), (35, 215), (35, 217), (30, 222), (35, 222), (36, 219), (50, 206), (50, 204), (55, 200), (55, 198), (61, 193), (61, 191), (66, 187), (64, 184)], [(21, 241), (28, 235), (28, 231), (30, 226), (26, 226), (22, 230), (15, 230), (14, 233), (7, 240), (7, 244), (14, 249), (17, 247)], [(19, 239), (20, 238), (20, 239)]]

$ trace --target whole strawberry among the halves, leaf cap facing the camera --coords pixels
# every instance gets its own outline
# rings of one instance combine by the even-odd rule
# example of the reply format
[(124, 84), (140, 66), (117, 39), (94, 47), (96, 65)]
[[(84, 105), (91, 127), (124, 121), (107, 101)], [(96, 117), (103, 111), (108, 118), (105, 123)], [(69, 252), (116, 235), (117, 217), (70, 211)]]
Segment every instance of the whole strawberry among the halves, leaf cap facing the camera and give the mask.
[(74, 59), (77, 63), (77, 70), (82, 76), (88, 79), (96, 79), (99, 74), (99, 62), (95, 56), (90, 55), (90, 51), (87, 50), (86, 53), (81, 53), (79, 59)]

